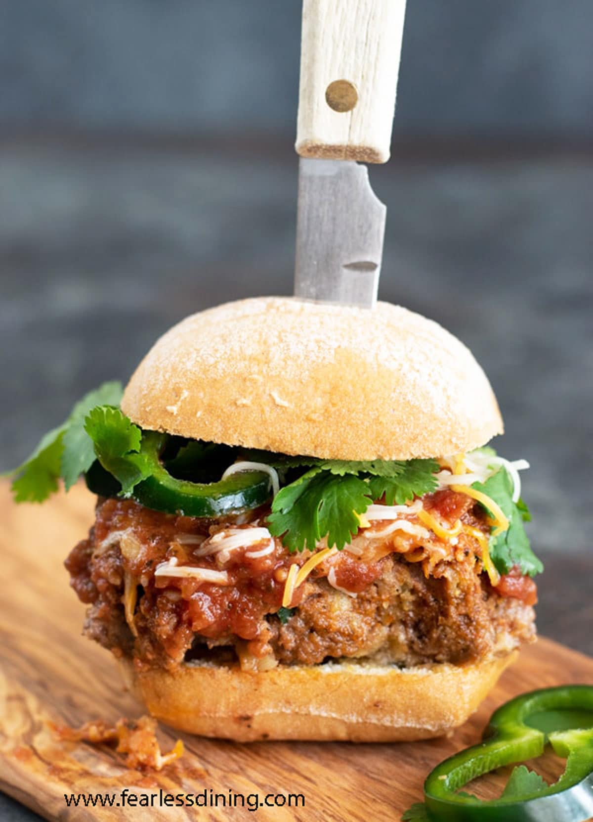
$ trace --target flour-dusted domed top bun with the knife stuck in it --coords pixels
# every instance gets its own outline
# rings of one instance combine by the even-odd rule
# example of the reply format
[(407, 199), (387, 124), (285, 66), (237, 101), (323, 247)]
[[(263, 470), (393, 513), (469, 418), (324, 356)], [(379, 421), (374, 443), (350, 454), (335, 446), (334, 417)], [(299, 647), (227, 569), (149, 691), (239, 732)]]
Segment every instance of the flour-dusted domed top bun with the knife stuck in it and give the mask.
[(142, 360), (122, 410), (149, 430), (326, 459), (439, 457), (503, 432), (466, 346), (387, 302), (268, 297), (188, 316)]

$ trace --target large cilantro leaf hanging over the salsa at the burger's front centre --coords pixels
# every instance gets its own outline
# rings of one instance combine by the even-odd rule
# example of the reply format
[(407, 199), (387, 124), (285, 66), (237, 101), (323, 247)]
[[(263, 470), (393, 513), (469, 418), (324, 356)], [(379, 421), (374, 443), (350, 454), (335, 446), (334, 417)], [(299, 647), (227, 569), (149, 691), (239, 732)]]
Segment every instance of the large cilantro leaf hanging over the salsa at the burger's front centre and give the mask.
[(322, 537), (343, 548), (360, 527), (356, 514), (370, 506), (369, 487), (352, 474), (340, 477), (317, 466), (283, 487), (272, 503), (269, 530), (289, 551), (315, 550)]

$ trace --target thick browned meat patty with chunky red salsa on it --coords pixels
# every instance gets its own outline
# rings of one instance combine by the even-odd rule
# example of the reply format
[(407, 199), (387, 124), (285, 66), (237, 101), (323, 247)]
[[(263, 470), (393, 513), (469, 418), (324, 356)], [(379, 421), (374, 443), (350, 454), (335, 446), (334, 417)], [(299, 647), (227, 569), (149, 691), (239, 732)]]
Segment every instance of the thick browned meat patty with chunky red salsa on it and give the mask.
[[(444, 520), (453, 510), (452, 519), (470, 530), (489, 529), (466, 496), (429, 496), (425, 507), (438, 505)], [(256, 516), (232, 526), (264, 524), (265, 512)], [(425, 556), (429, 548), (419, 549), (408, 534), (376, 540), (364, 557), (341, 552), (297, 589), (284, 624), (277, 612), (295, 556), (278, 539), (274, 551), (263, 556), (233, 551), (225, 585), (154, 576), (172, 545), (180, 564), (216, 568), (214, 557), (196, 560), (193, 551), (222, 527), (160, 514), (133, 501), (99, 501), (94, 529), (66, 562), (72, 586), (90, 605), (85, 633), (116, 654), (132, 656), (140, 667), (168, 668), (187, 658), (229, 652), (243, 667), (254, 658), (284, 664), (370, 656), (406, 666), (463, 663), (535, 635), (533, 609), (491, 587), (463, 534), (447, 556), (435, 538)], [(181, 543), (179, 533), (185, 535)], [(304, 561), (299, 557), (301, 565)]]

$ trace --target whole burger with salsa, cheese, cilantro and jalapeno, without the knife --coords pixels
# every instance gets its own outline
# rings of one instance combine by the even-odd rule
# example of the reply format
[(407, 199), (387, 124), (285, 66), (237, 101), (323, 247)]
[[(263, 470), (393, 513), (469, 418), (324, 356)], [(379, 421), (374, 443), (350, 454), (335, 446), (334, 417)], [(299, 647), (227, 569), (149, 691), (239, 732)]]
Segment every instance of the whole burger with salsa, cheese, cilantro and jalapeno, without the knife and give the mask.
[(19, 469), (17, 501), (81, 474), (67, 557), (149, 712), (237, 741), (399, 741), (464, 723), (535, 639), (524, 460), (435, 322), (255, 298), (189, 316)]

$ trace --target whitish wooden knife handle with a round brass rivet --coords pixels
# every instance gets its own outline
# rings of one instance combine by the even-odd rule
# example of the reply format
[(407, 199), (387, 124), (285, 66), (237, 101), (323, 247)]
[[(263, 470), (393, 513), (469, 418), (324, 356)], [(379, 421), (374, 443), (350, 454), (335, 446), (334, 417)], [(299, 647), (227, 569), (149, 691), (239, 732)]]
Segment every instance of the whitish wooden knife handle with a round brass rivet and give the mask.
[(296, 151), (389, 159), (406, 0), (303, 0)]

